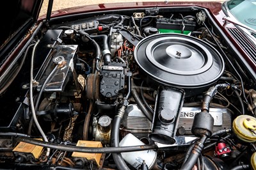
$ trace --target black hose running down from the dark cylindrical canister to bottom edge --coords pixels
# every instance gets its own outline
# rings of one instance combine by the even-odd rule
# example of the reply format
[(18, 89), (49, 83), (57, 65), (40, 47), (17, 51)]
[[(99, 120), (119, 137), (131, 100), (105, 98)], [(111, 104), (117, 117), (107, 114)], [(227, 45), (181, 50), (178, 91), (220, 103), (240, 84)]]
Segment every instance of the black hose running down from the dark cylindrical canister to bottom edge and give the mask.
[(180, 167), (180, 170), (190, 170), (192, 167), (196, 164), (198, 157), (200, 156), (202, 150), (204, 149), (204, 143), (207, 139), (206, 135), (203, 135), (200, 140), (196, 141), (195, 146), (193, 147), (193, 150), (191, 150), (191, 153), (189, 154), (188, 159), (182, 167)]

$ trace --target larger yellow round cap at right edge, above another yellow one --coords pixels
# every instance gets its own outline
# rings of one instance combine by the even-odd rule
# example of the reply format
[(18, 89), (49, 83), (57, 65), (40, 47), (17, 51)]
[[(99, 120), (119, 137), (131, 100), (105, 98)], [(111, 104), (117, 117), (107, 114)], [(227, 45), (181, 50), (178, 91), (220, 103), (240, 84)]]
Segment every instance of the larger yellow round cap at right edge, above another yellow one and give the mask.
[(256, 118), (249, 115), (237, 116), (233, 121), (233, 131), (242, 141), (253, 143), (256, 141)]

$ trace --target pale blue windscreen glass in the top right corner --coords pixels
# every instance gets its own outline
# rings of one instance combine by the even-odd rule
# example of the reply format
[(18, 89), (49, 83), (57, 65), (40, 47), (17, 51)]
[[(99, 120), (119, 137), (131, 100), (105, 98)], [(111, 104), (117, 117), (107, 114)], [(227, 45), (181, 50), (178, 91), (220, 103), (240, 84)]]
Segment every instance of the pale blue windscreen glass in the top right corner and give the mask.
[(256, 29), (256, 0), (231, 0), (227, 6), (239, 22)]

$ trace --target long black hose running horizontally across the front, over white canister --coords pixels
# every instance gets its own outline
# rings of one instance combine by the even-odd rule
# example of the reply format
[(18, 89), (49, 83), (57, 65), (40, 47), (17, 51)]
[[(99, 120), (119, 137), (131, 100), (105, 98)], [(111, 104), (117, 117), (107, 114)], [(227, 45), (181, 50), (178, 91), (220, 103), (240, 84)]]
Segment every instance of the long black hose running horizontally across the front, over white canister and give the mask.
[(54, 150), (77, 151), (77, 152), (84, 152), (84, 153), (121, 153), (121, 152), (129, 152), (129, 151), (143, 151), (143, 150), (157, 149), (156, 144), (148, 144), (148, 145), (141, 145), (141, 146), (125, 146), (125, 147), (90, 148), (90, 147), (82, 147), (82, 146), (49, 143), (45, 141), (31, 139), (29, 137), (17, 137), (17, 141), (35, 144), (38, 146), (43, 146), (45, 148), (52, 148)]

